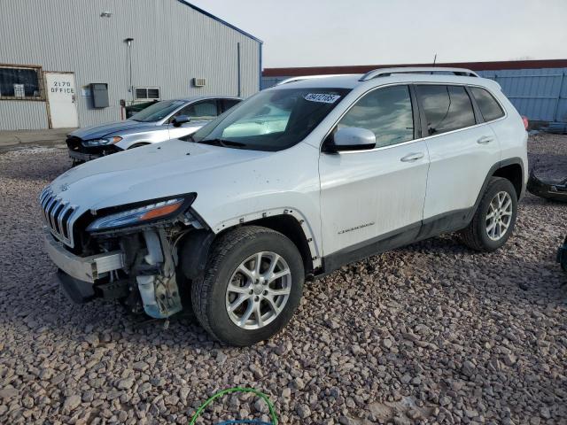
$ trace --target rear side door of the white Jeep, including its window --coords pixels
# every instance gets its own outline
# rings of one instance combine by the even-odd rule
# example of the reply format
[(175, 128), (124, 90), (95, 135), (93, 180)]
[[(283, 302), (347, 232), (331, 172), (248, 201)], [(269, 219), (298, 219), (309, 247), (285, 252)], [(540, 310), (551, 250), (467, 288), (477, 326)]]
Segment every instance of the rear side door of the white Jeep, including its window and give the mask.
[(431, 161), (426, 222), (475, 205), (486, 175), (500, 160), (500, 147), (464, 86), (421, 84), (416, 94)]

